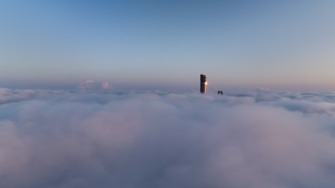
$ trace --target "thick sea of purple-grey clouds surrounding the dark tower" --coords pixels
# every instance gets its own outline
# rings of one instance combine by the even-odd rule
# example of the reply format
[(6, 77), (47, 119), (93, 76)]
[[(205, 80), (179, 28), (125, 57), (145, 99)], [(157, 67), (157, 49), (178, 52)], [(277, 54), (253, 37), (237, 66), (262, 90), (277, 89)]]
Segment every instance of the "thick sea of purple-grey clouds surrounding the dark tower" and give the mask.
[(1, 188), (335, 187), (335, 93), (82, 86), (0, 88)]

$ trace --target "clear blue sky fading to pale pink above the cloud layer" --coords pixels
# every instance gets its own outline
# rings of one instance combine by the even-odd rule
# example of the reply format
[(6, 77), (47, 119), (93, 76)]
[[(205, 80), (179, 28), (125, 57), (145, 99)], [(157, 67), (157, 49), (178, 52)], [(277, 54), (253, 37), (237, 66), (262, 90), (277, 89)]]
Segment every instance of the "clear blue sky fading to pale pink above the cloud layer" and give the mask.
[(1, 0), (0, 24), (0, 87), (335, 86), (334, 0)]

